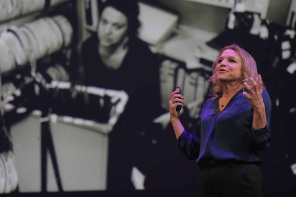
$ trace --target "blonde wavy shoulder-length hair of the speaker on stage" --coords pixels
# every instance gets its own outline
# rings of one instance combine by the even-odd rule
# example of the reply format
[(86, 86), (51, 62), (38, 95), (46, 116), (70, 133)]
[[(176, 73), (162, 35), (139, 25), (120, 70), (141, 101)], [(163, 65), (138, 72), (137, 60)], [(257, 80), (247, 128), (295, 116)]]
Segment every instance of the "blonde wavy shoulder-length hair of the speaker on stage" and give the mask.
[[(240, 86), (243, 86), (244, 82), (247, 82), (252, 88), (253, 85), (249, 80), (249, 77), (252, 77), (256, 83), (258, 83), (258, 71), (257, 71), (257, 64), (254, 58), (245, 51), (244, 49), (240, 48), (238, 45), (229, 45), (225, 46), (219, 53), (217, 59), (212, 65), (212, 72), (213, 75), (210, 77), (210, 96), (213, 96), (214, 98), (218, 97), (218, 94), (223, 92), (222, 82), (217, 79), (216, 75), (216, 66), (218, 64), (218, 60), (221, 56), (221, 54), (226, 51), (227, 49), (231, 49), (237, 53), (237, 55), (240, 57), (241, 60), (241, 77), (238, 79)], [(261, 89), (266, 89), (264, 87), (264, 84), (262, 83)]]

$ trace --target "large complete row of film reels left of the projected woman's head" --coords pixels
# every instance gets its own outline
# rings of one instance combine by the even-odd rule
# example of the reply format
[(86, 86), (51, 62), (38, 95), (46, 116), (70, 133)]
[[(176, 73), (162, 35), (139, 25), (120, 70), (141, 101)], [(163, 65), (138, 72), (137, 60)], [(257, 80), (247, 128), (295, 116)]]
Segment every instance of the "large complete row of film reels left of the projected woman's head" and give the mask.
[(63, 15), (10, 26), (0, 34), (0, 73), (67, 48), (72, 38), (73, 27)]

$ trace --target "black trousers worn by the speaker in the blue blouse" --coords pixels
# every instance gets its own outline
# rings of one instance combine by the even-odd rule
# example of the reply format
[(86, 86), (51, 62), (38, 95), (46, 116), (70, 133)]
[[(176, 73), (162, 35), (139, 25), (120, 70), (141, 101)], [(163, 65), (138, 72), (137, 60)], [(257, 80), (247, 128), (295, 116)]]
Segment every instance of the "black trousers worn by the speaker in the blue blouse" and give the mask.
[(255, 164), (223, 164), (200, 172), (200, 197), (262, 197), (262, 175)]

